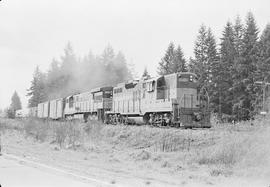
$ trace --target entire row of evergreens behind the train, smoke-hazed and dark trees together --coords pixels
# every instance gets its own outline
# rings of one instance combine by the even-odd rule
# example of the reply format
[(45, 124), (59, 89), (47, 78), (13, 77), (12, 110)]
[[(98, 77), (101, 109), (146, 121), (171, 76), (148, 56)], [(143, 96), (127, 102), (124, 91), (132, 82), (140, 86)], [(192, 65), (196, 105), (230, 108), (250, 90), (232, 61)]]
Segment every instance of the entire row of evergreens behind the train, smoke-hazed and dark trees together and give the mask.
[[(248, 12), (224, 25), (216, 40), (212, 29), (201, 25), (194, 43), (194, 57), (186, 60), (180, 45), (171, 42), (157, 68), (159, 75), (191, 71), (197, 74), (199, 89), (206, 88), (212, 112), (238, 120), (252, 118), (262, 109), (262, 89), (256, 81), (270, 81), (270, 25), (261, 35)], [(150, 77), (145, 68), (143, 76)], [(125, 56), (111, 46), (101, 55), (75, 55), (69, 43), (64, 55), (53, 59), (48, 72), (37, 67), (28, 89), (29, 107), (91, 88), (116, 85), (132, 79)]]

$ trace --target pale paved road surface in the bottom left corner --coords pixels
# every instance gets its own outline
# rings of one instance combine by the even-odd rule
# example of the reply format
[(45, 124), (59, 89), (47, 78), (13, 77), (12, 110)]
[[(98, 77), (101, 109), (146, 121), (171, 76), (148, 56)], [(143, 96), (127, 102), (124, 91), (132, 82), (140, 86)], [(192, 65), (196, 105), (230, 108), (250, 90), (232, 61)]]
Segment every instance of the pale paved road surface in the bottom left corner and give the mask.
[[(42, 167), (17, 160), (12, 156), (0, 156), (1, 187), (107, 187), (112, 186), (102, 181), (61, 171), (55, 168)], [(116, 185), (114, 185), (116, 186)]]

